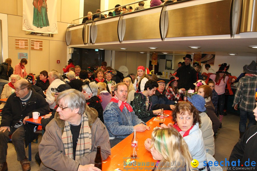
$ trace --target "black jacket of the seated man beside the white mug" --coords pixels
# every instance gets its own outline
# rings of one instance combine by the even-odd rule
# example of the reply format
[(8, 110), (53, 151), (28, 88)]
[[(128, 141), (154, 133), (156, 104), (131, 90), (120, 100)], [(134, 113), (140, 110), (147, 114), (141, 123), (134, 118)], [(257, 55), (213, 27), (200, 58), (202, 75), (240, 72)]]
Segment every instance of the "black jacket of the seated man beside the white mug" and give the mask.
[(39, 112), (40, 116), (46, 115), (50, 112), (49, 104), (45, 99), (32, 90), (31, 97), (25, 107), (22, 109), (21, 99), (15, 93), (10, 95), (7, 99), (2, 111), (2, 120), (0, 127), (14, 127), (21, 119), (26, 116), (32, 118), (32, 112)]

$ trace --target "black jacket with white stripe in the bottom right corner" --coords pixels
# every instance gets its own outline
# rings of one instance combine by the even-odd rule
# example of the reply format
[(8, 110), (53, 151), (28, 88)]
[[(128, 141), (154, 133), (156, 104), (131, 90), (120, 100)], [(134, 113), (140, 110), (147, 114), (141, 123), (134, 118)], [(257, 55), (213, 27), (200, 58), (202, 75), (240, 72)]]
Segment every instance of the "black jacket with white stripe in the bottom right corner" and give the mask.
[[(232, 161), (237, 161), (240, 160), (240, 165), (243, 164), (242, 168), (246, 168), (246, 164), (250, 164), (249, 167), (251, 166), (252, 161), (257, 161), (257, 125), (254, 125), (250, 127), (242, 136), (240, 141), (236, 143), (234, 146), (230, 157), (229, 157), (229, 162), (231, 163)], [(248, 163), (248, 160), (250, 161)], [(238, 166), (237, 166), (238, 167)], [(256, 168), (256, 166), (254, 166)], [(233, 167), (230, 167), (231, 170), (234, 170)], [(241, 169), (242, 170), (242, 169)]]

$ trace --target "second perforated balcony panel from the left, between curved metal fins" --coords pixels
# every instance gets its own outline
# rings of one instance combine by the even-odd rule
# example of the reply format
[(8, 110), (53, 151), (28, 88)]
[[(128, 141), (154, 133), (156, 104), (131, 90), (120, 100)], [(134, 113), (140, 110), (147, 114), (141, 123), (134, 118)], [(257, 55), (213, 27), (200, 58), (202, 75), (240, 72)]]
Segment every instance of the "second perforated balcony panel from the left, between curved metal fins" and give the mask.
[(97, 38), (95, 43), (99, 42), (116, 42), (119, 41), (117, 26), (118, 21), (112, 21), (109, 23), (98, 24), (97, 26)]

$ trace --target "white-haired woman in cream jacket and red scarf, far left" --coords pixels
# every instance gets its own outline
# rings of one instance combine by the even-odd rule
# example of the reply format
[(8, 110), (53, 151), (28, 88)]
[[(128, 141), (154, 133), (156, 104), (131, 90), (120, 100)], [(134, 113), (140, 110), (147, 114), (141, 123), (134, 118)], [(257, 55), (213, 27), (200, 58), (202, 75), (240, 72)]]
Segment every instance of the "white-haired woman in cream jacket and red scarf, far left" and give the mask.
[[(9, 82), (8, 84), (5, 84), (5, 86), (3, 88), (3, 91), (2, 91), (2, 94), (1, 94), (1, 99), (8, 98), (12, 93), (14, 93), (15, 88), (14, 88), (13, 85), (16, 81), (20, 80), (19, 75), (12, 74), (10, 76), (10, 78), (11, 78), (11, 82)], [(3, 109), (4, 106), (5, 106), (5, 103), (2, 103), (0, 105), (0, 109)]]

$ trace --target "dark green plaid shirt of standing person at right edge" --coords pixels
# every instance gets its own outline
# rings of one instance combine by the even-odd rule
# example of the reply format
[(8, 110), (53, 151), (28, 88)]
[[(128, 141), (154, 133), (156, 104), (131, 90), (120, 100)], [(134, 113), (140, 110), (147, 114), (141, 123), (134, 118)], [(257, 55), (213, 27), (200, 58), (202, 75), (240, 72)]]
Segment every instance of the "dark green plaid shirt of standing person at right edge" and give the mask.
[(257, 87), (257, 77), (244, 76), (240, 78), (236, 94), (234, 97), (233, 106), (239, 104), (243, 111), (251, 112), (255, 107), (255, 92)]

